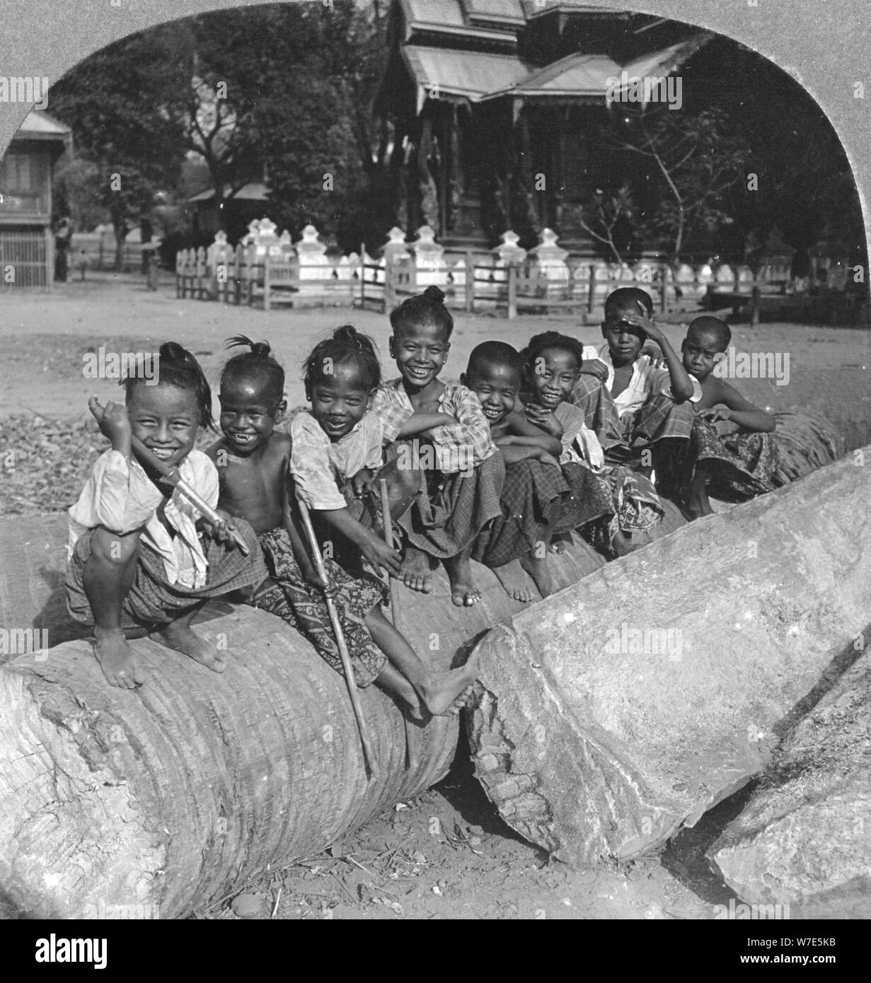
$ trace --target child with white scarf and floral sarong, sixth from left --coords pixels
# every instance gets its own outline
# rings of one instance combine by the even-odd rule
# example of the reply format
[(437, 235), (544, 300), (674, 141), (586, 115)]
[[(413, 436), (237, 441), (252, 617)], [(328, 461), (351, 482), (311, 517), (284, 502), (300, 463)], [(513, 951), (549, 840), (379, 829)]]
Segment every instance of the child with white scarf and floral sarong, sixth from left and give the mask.
[[(586, 426), (583, 412), (568, 402), (583, 365), (581, 343), (556, 331), (545, 331), (530, 340), (523, 357), (526, 420), (560, 440), (559, 462), (576, 497), (591, 494), (588, 490), (592, 479), (600, 490), (599, 496), (605, 493), (610, 500), (609, 508), (591, 517), (597, 521), (588, 520), (575, 528), (604, 554), (625, 555), (635, 549), (630, 539), (633, 533), (648, 532), (662, 521), (663, 506), (644, 475), (606, 460), (599, 439)], [(591, 469), (595, 476), (591, 476)], [(586, 491), (582, 483), (586, 483)], [(566, 541), (565, 536), (560, 539)], [(559, 550), (561, 543), (557, 541), (554, 547)]]

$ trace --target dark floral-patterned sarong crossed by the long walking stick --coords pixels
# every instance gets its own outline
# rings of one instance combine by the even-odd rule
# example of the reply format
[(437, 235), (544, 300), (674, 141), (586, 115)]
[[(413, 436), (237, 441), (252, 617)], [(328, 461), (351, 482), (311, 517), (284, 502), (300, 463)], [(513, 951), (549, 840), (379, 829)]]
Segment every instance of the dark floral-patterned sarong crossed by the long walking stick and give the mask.
[[(323, 594), (303, 577), (287, 530), (278, 528), (261, 533), (260, 543), (269, 579), (250, 603), (277, 614), (312, 643), (327, 665), (342, 672)], [(366, 618), (373, 608), (387, 602), (386, 588), (375, 577), (352, 577), (333, 560), (325, 558), (323, 562), (330, 583), (337, 589), (335, 605), (354, 678), (358, 686), (368, 686), (387, 662), (366, 627)]]

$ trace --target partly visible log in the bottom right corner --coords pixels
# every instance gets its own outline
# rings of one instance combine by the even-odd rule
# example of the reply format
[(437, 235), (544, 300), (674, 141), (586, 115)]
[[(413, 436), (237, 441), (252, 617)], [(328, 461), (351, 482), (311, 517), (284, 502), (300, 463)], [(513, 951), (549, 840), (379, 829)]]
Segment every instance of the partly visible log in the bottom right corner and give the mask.
[[(855, 658), (869, 640), (871, 625), (844, 656)], [(742, 901), (780, 904), (788, 918), (871, 914), (869, 747), (866, 652), (792, 731), (743, 812), (708, 851)]]

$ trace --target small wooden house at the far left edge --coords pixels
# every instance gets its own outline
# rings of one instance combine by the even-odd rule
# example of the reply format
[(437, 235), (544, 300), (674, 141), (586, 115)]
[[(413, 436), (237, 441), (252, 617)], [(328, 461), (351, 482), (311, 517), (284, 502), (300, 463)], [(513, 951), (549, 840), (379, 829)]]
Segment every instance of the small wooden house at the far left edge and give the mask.
[(68, 127), (32, 109), (0, 159), (2, 287), (46, 287), (54, 280), (52, 176), (71, 140)]

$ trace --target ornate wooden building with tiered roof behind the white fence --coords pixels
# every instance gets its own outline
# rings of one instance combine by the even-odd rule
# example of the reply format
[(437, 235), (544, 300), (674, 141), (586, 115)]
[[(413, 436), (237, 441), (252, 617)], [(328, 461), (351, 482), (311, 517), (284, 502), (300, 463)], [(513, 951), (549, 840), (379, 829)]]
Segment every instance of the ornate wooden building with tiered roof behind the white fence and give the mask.
[(399, 224), (451, 246), (508, 228), (529, 245), (550, 227), (593, 252), (578, 205), (631, 166), (599, 139), (612, 80), (666, 77), (706, 39), (575, 0), (393, 0), (376, 112), (392, 124)]

